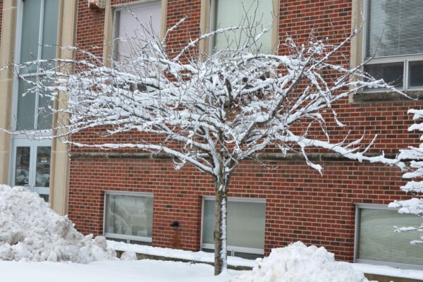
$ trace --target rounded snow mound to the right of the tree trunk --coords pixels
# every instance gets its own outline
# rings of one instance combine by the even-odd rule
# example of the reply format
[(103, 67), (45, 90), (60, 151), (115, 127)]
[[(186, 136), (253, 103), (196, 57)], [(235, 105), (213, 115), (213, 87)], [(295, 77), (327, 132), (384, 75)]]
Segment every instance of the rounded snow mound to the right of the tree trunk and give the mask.
[(324, 247), (307, 247), (301, 242), (271, 251), (252, 271), (231, 282), (368, 282), (348, 262), (336, 262)]

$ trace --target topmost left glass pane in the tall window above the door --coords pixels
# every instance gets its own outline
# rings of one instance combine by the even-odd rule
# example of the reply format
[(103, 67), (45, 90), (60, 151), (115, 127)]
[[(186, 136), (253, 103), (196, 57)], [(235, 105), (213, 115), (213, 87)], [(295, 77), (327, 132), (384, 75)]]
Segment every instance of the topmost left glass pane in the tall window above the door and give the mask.
[[(39, 47), (39, 17), (41, 0), (22, 1), (22, 36), (20, 38), (20, 62), (38, 59)], [(23, 69), (23, 73), (33, 73), (37, 67)]]

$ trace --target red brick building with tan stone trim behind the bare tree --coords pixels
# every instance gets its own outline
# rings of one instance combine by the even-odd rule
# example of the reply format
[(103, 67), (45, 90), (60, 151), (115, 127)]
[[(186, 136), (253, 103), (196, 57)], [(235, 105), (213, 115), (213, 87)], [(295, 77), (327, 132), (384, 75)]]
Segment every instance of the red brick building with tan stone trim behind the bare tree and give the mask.
[[(17, 60), (11, 51), (14, 42), (15, 50), (23, 54), (25, 5), (30, 1), (33, 0), (0, 1), (3, 5), (2, 63)], [(37, 2), (42, 3), (41, 6), (49, 4), (49, 0)], [(97, 8), (89, 8), (87, 1), (82, 0), (58, 2), (55, 10), (59, 15), (57, 42), (61, 39), (61, 42), (69, 42), (66, 44), (76, 44), (104, 56), (104, 60), (116, 54), (114, 48), (123, 56), (125, 54), (124, 43), (111, 45), (110, 42), (119, 34), (133, 32), (135, 25), (128, 8), (142, 19), (152, 15), (154, 28), (161, 35), (180, 18), (188, 16), (168, 42), (175, 49), (181, 42), (216, 26), (233, 25), (243, 10), (232, 0), (108, 0), (97, 1)], [(41, 19), (49, 13), (48, 5), (45, 7), (44, 14), (39, 13)], [(419, 15), (423, 5), (419, 0), (259, 0), (259, 7), (263, 15), (271, 12), (278, 15), (264, 47), (269, 52), (281, 54), (287, 51), (280, 43), (286, 35), (307, 43), (313, 30), (317, 37), (331, 37), (331, 42), (338, 42), (347, 37), (352, 28), (360, 26), (363, 16), (366, 19), (363, 32), (343, 50), (346, 63), (354, 66), (374, 56), (366, 65), (369, 73), (392, 81), (410, 95), (419, 97), (421, 94), (423, 20)], [(39, 20), (40, 30), (42, 23)], [(41, 34), (39, 38), (43, 38)], [(47, 35), (47, 31), (44, 34)], [(219, 46), (219, 42), (214, 42), (214, 46)], [(200, 48), (207, 51), (209, 46)], [(56, 50), (56, 56), (73, 56), (71, 52), (60, 54), (60, 51)], [(38, 53), (43, 54), (42, 50)], [(11, 109), (0, 110), (3, 127), (13, 121), (11, 116), (19, 119), (20, 104), (13, 102), (19, 99), (16, 98), (19, 82), (11, 77), (0, 82), (8, 83), (8, 88), (2, 87), (0, 92), (1, 101), (8, 104), (0, 107)], [(421, 102), (393, 93), (364, 91), (336, 104), (338, 118), (348, 126), (340, 130), (329, 124), (329, 131), (340, 140), (348, 130), (357, 137), (364, 133), (379, 134), (372, 152), (395, 155), (398, 149), (418, 142), (417, 134), (407, 132), (412, 123), (407, 110), (420, 106)], [(17, 124), (12, 123), (12, 126)], [(114, 240), (160, 247), (212, 250), (214, 184), (212, 178), (196, 168), (185, 166), (175, 171), (171, 159), (154, 159), (133, 150), (71, 148), (68, 161), (63, 153), (66, 149), (58, 149), (59, 142), (34, 145), (22, 141), (24, 137), (22, 140), (0, 137), (0, 145), (4, 147), (1, 165), (9, 167), (0, 173), (10, 171), (1, 180), (11, 185), (37, 187), (37, 183), (31, 181), (37, 180), (38, 164), (41, 166), (42, 158), (46, 157), (38, 157), (42, 150), (37, 148), (51, 146), (51, 161), (46, 161), (51, 164), (49, 194), (54, 197), (50, 196), (50, 202), (53, 207), (59, 207), (57, 202), (67, 203), (56, 210), (67, 213), (82, 233), (104, 234)], [(94, 131), (74, 138), (99, 141)], [(128, 134), (121, 138), (129, 140), (137, 136)], [(25, 147), (30, 147), (26, 161)], [(386, 208), (392, 200), (410, 197), (399, 190), (404, 184), (400, 171), (323, 152), (315, 157), (324, 166), (323, 176), (295, 154), (284, 158), (275, 155), (262, 163), (243, 161), (238, 166), (229, 188), (230, 255), (267, 255), (274, 247), (302, 240), (307, 244), (323, 245), (336, 254), (336, 259), (421, 268), (422, 246), (409, 244), (418, 234), (392, 232), (393, 226), (412, 226), (419, 219), (398, 215)], [(20, 179), (17, 176), (23, 174), (25, 164), (27, 174), (33, 176), (23, 177), (27, 183), (17, 183)], [(171, 226), (175, 221), (179, 223), (177, 228)]]

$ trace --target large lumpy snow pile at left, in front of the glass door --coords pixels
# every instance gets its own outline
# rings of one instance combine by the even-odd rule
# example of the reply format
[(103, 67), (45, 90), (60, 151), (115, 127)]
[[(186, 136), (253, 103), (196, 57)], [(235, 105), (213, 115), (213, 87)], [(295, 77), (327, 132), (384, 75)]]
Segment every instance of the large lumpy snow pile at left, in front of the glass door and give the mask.
[(113, 259), (102, 236), (92, 240), (73, 228), (36, 193), (0, 185), (0, 260), (87, 263)]

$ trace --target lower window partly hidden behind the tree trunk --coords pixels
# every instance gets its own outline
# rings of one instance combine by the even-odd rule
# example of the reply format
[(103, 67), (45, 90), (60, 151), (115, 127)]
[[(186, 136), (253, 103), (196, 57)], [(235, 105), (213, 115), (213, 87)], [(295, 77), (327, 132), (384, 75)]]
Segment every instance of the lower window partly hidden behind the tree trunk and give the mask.
[[(262, 199), (228, 199), (228, 255), (255, 259), (264, 255), (264, 216)], [(204, 197), (202, 250), (214, 251), (214, 198)]]

